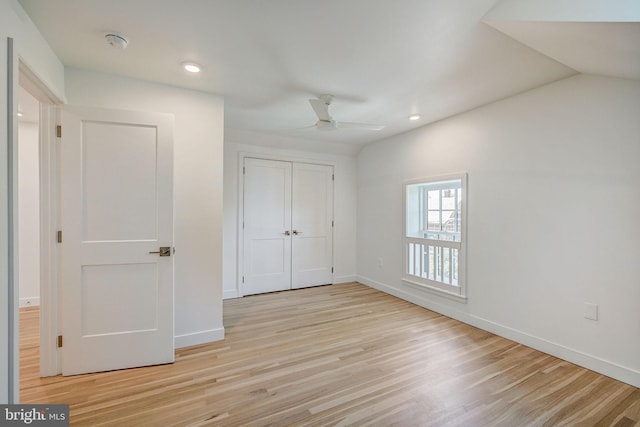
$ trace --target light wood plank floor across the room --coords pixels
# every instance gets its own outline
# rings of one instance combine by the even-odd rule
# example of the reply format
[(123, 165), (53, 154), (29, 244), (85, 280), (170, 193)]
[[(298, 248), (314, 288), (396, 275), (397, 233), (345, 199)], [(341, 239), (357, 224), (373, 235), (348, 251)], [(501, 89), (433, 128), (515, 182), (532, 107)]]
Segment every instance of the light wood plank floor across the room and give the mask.
[(38, 378), (37, 317), (22, 401), (72, 425), (640, 425), (640, 389), (357, 283), (226, 300), (224, 341), (69, 378)]

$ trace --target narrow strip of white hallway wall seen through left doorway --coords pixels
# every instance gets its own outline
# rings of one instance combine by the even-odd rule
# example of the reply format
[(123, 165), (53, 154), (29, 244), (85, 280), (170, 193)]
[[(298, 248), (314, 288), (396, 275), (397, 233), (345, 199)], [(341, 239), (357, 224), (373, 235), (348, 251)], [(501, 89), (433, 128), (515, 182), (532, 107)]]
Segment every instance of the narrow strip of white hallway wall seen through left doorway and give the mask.
[(18, 277), (20, 307), (40, 305), (38, 123), (18, 125)]

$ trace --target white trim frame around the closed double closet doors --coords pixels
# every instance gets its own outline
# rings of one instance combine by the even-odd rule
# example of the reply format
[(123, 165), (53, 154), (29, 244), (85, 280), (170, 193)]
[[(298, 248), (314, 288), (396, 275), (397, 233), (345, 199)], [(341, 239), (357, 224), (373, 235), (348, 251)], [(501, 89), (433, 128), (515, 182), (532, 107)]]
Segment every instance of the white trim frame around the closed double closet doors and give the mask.
[[(244, 271), (244, 229), (242, 227), (242, 219), (244, 218), (244, 159), (262, 159), (262, 160), (276, 160), (283, 162), (294, 162), (294, 163), (309, 163), (314, 165), (326, 165), (333, 166), (333, 170), (335, 173), (336, 163), (327, 161), (327, 160), (318, 160), (309, 157), (296, 157), (296, 156), (286, 156), (286, 155), (278, 155), (278, 154), (267, 154), (267, 153), (255, 153), (248, 151), (241, 151), (238, 153), (238, 218), (237, 218), (237, 233), (236, 233), (236, 242), (237, 252), (236, 252), (236, 291), (238, 297), (243, 297), (243, 287), (242, 287), (242, 273)], [(333, 192), (333, 216), (335, 218), (335, 188)], [(332, 229), (335, 230), (335, 227)], [(332, 247), (331, 247), (331, 262), (335, 265), (335, 236), (332, 239)]]

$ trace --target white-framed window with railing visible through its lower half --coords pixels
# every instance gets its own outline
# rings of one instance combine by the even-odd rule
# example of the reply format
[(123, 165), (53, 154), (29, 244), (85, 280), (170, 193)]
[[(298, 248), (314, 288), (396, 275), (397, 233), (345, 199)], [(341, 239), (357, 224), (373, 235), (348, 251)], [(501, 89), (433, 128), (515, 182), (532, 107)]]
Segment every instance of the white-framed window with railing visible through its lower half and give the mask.
[(466, 298), (466, 174), (404, 185), (403, 280)]

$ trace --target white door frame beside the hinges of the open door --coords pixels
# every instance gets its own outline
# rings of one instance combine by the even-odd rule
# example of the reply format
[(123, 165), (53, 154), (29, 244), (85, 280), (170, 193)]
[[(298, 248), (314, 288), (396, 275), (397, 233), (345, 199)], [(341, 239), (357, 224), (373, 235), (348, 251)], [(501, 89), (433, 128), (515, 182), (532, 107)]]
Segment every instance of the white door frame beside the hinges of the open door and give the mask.
[(40, 102), (40, 375), (60, 373), (57, 348), (58, 308), (58, 143), (56, 105), (63, 104), (42, 80), (19, 60), (19, 83)]

